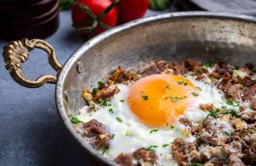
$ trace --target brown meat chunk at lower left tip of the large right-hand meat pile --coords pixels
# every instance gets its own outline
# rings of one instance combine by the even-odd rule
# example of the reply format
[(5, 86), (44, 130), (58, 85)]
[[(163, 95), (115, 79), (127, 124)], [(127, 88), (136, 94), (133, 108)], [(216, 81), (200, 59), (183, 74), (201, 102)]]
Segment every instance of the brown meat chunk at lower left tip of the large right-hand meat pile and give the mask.
[(177, 163), (180, 166), (189, 166), (190, 153), (196, 151), (195, 142), (189, 142), (184, 139), (176, 138), (173, 141), (172, 151), (176, 156)]

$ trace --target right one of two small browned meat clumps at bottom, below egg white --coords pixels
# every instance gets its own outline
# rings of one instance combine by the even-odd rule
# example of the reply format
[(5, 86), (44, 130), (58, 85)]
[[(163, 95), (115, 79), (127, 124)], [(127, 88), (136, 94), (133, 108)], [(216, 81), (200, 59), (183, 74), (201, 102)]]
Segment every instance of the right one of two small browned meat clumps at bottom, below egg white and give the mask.
[(156, 164), (158, 156), (147, 148), (139, 148), (132, 153), (132, 157), (138, 160), (141, 166), (153, 166)]

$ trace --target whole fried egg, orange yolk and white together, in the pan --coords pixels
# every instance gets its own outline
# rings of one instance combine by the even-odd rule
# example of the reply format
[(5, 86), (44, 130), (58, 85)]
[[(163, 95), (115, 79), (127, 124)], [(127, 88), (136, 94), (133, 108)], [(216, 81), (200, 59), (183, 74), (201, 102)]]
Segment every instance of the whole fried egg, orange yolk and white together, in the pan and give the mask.
[(173, 140), (177, 137), (191, 142), (196, 140), (186, 132), (186, 126), (179, 122), (179, 118), (203, 122), (210, 112), (201, 110), (200, 104), (213, 103), (222, 112), (230, 108), (223, 100), (222, 91), (192, 76), (155, 74), (128, 86), (117, 86), (119, 92), (108, 106), (102, 106), (96, 112), (89, 112), (85, 106), (77, 115), (83, 122), (98, 120), (115, 135), (108, 151), (103, 154), (108, 159), (115, 159), (122, 152), (153, 147), (159, 156), (159, 165), (177, 165), (171, 155)]

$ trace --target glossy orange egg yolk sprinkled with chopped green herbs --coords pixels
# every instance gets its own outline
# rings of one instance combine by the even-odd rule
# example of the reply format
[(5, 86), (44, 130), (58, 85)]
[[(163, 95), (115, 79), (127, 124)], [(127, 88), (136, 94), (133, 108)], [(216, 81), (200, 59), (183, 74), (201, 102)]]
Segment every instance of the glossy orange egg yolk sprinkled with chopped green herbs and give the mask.
[(143, 77), (130, 86), (130, 109), (149, 126), (171, 125), (177, 122), (198, 97), (198, 89), (183, 77), (155, 74)]

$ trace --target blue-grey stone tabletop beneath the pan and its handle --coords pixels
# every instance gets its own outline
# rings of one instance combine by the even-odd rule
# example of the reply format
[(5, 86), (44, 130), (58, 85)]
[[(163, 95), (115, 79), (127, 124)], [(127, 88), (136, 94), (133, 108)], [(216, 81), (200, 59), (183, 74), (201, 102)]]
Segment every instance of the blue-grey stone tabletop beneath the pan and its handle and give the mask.
[[(61, 64), (85, 42), (74, 32), (70, 13), (61, 11), (58, 30), (44, 39), (53, 46)], [(147, 11), (146, 16), (159, 13), (163, 12)], [(1, 49), (7, 44), (0, 40)], [(22, 70), (29, 79), (56, 74), (47, 54), (39, 49), (30, 52)], [(54, 89), (54, 84), (36, 89), (20, 86), (0, 60), (0, 166), (91, 165), (58, 117)]]

